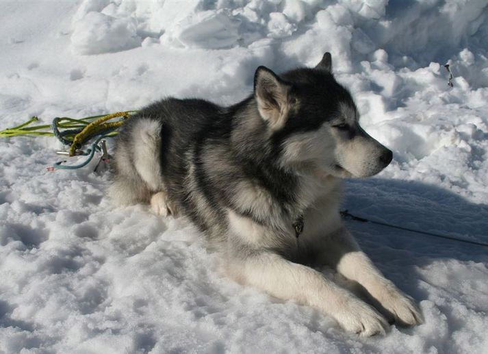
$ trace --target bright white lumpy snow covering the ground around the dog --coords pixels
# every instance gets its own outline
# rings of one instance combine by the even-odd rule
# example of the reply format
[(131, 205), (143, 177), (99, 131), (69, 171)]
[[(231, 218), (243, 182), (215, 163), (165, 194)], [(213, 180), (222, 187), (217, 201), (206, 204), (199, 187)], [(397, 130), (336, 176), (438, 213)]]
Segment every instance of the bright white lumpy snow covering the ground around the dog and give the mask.
[[(0, 10), (0, 129), (167, 96), (235, 103), (257, 66), (313, 66), (331, 51), (363, 127), (395, 155), (378, 177), (348, 181), (345, 207), (488, 242), (487, 1), (2, 1)], [(113, 207), (106, 175), (48, 172), (57, 149), (53, 138), (0, 142), (2, 353), (488, 353), (486, 248), (348, 222), (426, 318), (358, 338), (222, 277), (185, 220)]]

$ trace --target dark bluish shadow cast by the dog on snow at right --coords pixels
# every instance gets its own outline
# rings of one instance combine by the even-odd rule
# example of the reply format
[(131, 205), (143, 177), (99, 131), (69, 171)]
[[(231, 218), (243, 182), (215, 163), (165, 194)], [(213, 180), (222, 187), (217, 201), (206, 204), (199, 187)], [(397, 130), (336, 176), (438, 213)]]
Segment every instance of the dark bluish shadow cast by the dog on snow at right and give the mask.
[[(342, 210), (380, 223), (488, 244), (488, 205), (472, 203), (437, 186), (394, 179), (350, 179)], [(440, 260), (488, 263), (488, 247), (346, 219), (361, 248), (398, 288), (420, 302), (424, 270)], [(450, 286), (461, 287), (453, 282)], [(368, 294), (359, 284), (353, 292)], [(461, 289), (459, 290), (461, 292)], [(381, 311), (381, 306), (368, 301)], [(382, 312), (382, 311), (381, 311)], [(387, 316), (388, 317), (388, 316)]]

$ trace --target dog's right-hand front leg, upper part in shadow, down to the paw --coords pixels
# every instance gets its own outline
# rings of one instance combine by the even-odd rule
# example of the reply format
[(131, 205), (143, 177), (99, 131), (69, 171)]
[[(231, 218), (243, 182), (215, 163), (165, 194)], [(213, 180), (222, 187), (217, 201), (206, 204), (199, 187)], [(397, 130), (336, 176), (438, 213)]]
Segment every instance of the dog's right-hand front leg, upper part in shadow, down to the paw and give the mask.
[(420, 309), (413, 299), (381, 274), (345, 227), (327, 238), (321, 257), (344, 277), (359, 283), (385, 316), (393, 318), (400, 325), (423, 322)]

